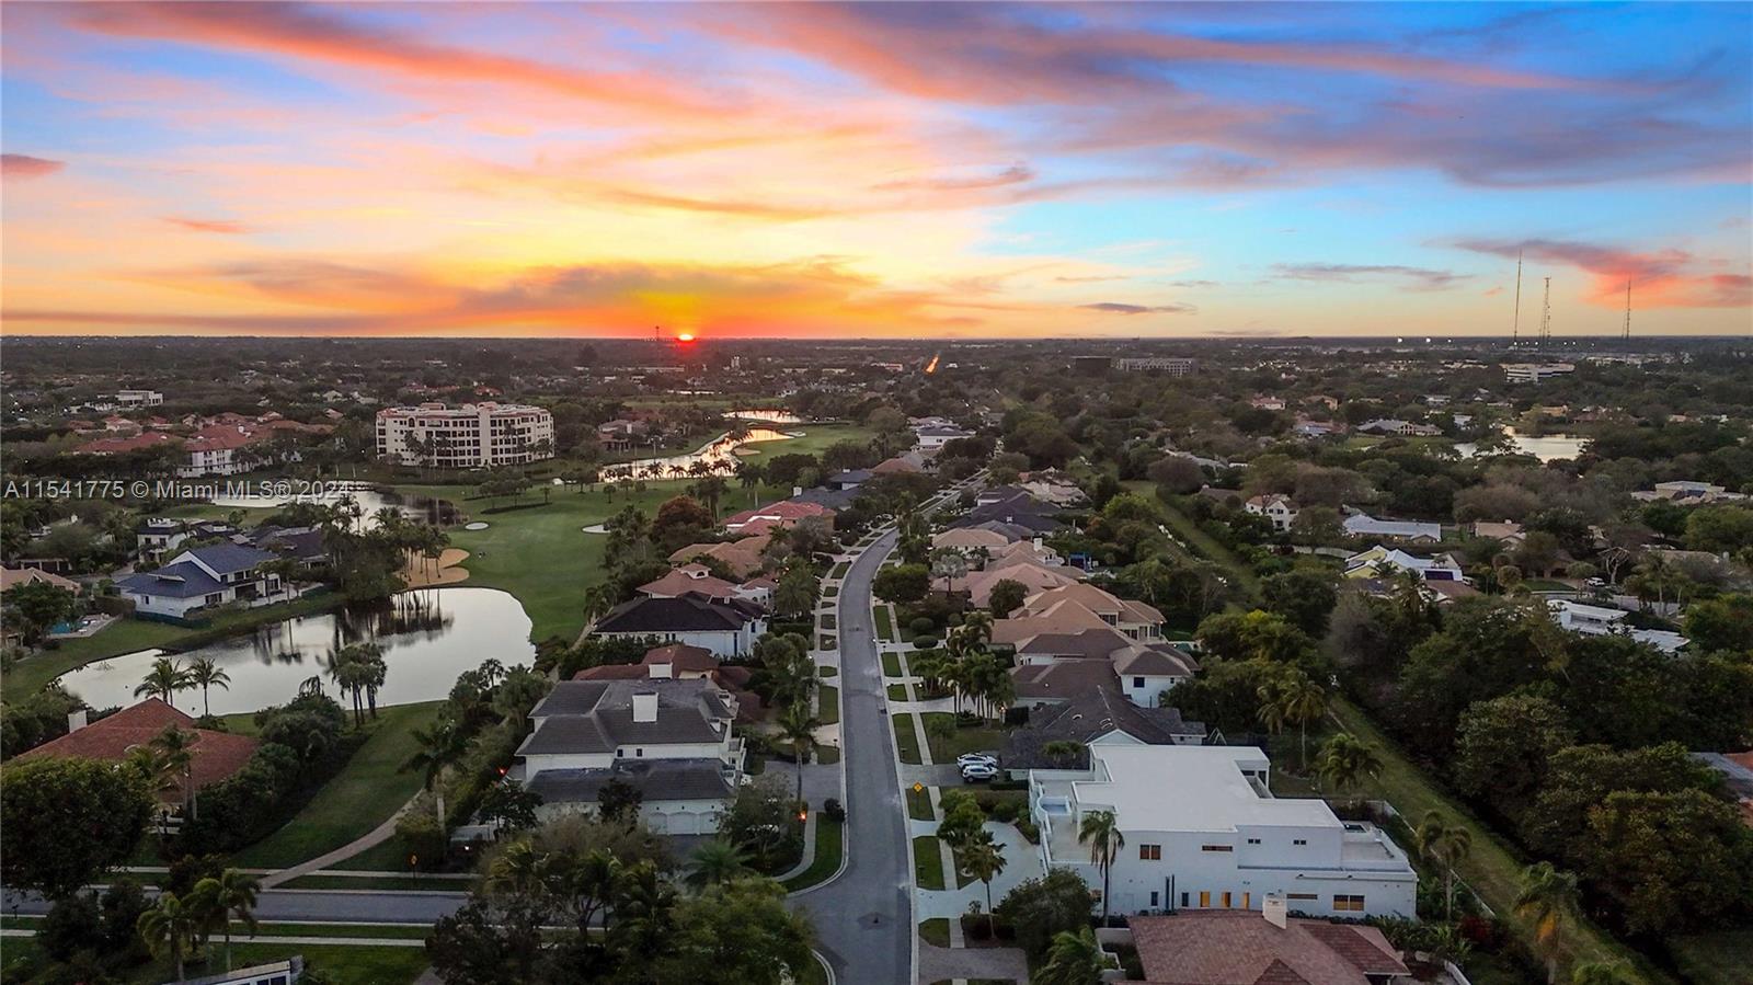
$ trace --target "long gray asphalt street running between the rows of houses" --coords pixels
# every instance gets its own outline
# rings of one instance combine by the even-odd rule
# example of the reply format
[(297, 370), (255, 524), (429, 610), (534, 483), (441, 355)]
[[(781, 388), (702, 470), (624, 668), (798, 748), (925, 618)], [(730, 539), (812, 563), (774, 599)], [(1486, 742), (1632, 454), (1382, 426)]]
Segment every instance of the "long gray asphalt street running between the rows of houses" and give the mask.
[(913, 875), (906, 804), (896, 778), (894, 733), (871, 626), (871, 578), (896, 535), (861, 554), (840, 587), (841, 762), (847, 771), (847, 868), (794, 896), (810, 911), (840, 983), (913, 981)]

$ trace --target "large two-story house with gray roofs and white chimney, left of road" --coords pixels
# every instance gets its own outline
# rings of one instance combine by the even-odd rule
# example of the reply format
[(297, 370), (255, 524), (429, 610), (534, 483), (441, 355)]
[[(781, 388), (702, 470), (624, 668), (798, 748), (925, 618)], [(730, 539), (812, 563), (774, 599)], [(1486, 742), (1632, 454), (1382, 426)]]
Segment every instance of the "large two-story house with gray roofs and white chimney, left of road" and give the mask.
[(710, 680), (563, 680), (529, 712), (514, 776), (543, 818), (593, 813), (619, 780), (659, 834), (712, 834), (743, 773), (736, 699)]

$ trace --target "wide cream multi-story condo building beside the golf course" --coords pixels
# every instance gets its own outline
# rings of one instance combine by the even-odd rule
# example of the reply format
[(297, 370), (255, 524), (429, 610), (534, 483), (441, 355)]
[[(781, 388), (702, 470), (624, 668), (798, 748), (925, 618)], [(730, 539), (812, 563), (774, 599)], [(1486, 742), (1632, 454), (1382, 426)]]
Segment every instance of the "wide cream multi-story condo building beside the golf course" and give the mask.
[(554, 457), (554, 415), (521, 403), (391, 407), (377, 412), (377, 454), (440, 468), (498, 468)]

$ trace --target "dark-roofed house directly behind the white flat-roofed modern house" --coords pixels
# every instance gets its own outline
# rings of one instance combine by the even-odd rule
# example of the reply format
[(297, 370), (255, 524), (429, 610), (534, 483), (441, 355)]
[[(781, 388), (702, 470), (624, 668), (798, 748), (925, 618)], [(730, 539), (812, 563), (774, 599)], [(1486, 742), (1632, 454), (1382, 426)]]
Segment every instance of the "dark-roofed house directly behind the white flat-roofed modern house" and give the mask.
[(1097, 747), (1199, 745), (1208, 734), (1204, 722), (1182, 719), (1178, 708), (1134, 705), (1106, 659), (1031, 664), (1010, 673), (1015, 706), (1027, 710), (1027, 720), (1004, 736), (999, 754), (1013, 778), (1026, 778), (1029, 769), (1083, 768)]

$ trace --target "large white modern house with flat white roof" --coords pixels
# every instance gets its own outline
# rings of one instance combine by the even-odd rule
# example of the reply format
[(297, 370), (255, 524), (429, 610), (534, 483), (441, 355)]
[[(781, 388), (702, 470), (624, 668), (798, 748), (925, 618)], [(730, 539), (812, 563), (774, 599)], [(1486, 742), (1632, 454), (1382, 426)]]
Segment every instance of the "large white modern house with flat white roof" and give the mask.
[(1418, 873), (1381, 829), (1325, 801), (1274, 797), (1255, 747), (1092, 743), (1085, 769), (1031, 769), (1029, 811), (1045, 868), (1103, 873), (1078, 841), (1083, 817), (1113, 811), (1125, 845), (1108, 871), (1117, 913), (1262, 910), (1280, 896), (1315, 917), (1413, 917)]

